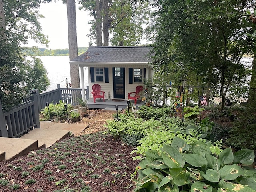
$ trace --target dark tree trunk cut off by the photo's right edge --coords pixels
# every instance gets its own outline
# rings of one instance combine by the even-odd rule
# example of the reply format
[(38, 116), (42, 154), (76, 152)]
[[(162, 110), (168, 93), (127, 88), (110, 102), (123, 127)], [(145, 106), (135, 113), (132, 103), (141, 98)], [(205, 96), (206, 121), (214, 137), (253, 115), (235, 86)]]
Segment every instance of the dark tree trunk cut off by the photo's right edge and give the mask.
[(252, 77), (250, 81), (247, 107), (256, 110), (256, 51), (253, 53)]

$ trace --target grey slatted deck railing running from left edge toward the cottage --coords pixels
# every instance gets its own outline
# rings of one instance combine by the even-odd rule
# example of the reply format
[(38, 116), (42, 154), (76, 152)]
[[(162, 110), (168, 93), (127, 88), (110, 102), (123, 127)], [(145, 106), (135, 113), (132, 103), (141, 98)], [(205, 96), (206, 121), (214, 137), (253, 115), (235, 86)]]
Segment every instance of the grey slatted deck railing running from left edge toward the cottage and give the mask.
[[(3, 112), (0, 100), (0, 137), (18, 137), (26, 131), (34, 128), (40, 128), (39, 112), (46, 103), (62, 102), (77, 105), (78, 98), (82, 97), (82, 89), (78, 88), (60, 88), (42, 92), (39, 94), (38, 89), (30, 90), (31, 96), (27, 96), (23, 103), (12, 107), (8, 112)], [(86, 99), (89, 97), (88, 86)]]

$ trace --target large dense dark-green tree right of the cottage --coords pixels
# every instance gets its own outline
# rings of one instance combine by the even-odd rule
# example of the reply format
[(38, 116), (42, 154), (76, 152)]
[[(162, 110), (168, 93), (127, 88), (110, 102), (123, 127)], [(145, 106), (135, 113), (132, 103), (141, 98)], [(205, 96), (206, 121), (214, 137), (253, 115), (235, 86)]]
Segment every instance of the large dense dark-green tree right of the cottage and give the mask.
[(218, 85), (223, 109), (229, 86), (246, 75), (240, 64), (247, 44), (244, 1), (160, 0), (158, 4), (158, 60), (176, 62), (185, 76), (194, 71), (208, 87)]

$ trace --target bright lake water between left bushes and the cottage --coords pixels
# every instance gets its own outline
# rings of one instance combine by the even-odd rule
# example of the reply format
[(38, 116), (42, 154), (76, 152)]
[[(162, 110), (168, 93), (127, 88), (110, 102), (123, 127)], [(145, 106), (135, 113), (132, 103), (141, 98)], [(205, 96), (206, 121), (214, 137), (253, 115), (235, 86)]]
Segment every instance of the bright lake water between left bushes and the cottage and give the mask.
[[(42, 60), (46, 70), (47, 76), (50, 79), (50, 86), (48, 90), (53, 90), (57, 88), (57, 84), (60, 84), (61, 88), (66, 88), (66, 78), (70, 82), (70, 67), (69, 67), (69, 57), (68, 56), (40, 56), (38, 57)], [(79, 68), (80, 74), (80, 68)], [(81, 77), (80, 77), (81, 82)], [(88, 86), (88, 71), (84, 71), (84, 84)]]

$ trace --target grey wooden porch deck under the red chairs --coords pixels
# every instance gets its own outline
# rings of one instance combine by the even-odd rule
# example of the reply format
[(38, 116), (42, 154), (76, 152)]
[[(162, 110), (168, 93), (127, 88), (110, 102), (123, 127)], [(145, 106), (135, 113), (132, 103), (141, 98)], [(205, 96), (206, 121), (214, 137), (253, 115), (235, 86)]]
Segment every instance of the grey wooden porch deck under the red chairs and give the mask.
[[(130, 100), (131, 103), (134, 104), (134, 100)], [(136, 108), (138, 108), (138, 106), (142, 106), (144, 105), (145, 102), (140, 100), (137, 100), (137, 104), (134, 105), (136, 106)], [(90, 98), (87, 100), (87, 105), (89, 106), (90, 109), (113, 109), (116, 110), (116, 105), (118, 105), (118, 110), (122, 110), (125, 109), (128, 105), (127, 105), (127, 100), (122, 100), (122, 101), (118, 101), (118, 100), (106, 100), (105, 102), (103, 102), (103, 99), (96, 99), (96, 102), (93, 102), (93, 98)]]

